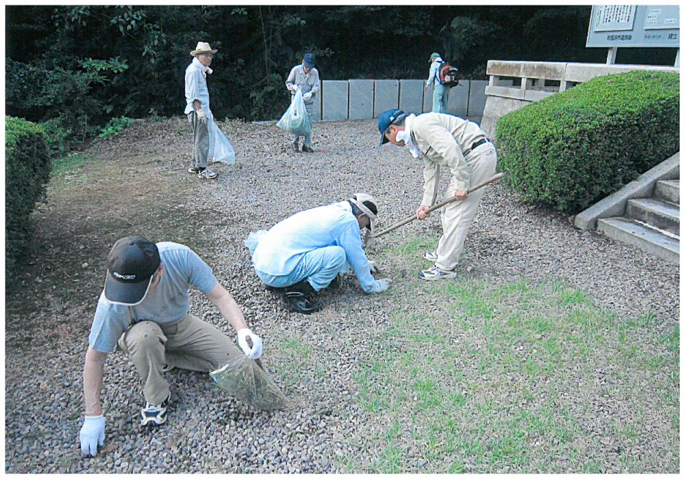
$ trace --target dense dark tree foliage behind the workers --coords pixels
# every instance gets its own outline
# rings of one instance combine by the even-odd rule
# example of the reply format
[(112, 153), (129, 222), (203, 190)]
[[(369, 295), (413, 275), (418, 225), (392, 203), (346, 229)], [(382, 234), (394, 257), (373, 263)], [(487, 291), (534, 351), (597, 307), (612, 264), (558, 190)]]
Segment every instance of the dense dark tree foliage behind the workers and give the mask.
[[(432, 51), (472, 78), (485, 77), (490, 59), (606, 57), (585, 48), (589, 5), (14, 5), (6, 12), (7, 112), (47, 122), (48, 135), (60, 138), (87, 138), (113, 116), (181, 114), (184, 69), (198, 41), (219, 49), (210, 79), (215, 116), (250, 120), (282, 113), (284, 79), (307, 51), (322, 79), (426, 77)], [(675, 56), (619, 54), (655, 64)]]

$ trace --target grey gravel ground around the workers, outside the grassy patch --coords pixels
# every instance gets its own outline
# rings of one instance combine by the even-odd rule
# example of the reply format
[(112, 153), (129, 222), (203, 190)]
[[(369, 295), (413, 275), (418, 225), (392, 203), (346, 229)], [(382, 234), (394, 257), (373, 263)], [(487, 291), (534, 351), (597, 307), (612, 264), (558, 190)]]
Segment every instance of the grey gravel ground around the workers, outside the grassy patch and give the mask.
[[(373, 456), (372, 418), (356, 402), (353, 372), (360, 358), (372, 354), (373, 344), (363, 338), (384, 327), (392, 306), (387, 296), (367, 296), (347, 277), (342, 292), (323, 293), (320, 313), (290, 313), (262, 289), (242, 240), (292, 213), (360, 191), (379, 198), (379, 227), (392, 224), (411, 214), (421, 198), (421, 164), (391, 145), (379, 148), (371, 120), (315, 124), (312, 155), (288, 151), (288, 136), (273, 124), (229, 122), (223, 129), (238, 159), (234, 166), (216, 168), (219, 181), (201, 182), (185, 172), (190, 133), (182, 120), (171, 119), (138, 121), (119, 137), (95, 144), (87, 153), (103, 161), (84, 167), (90, 180), (51, 187), (47, 205), (36, 213), (35, 259), (23, 282), (8, 290), (6, 472), (344, 472), (343, 458), (364, 464)], [(114, 194), (127, 181), (139, 182), (140, 189)], [(155, 200), (161, 216), (127, 216), (131, 198)], [(164, 229), (155, 229), (155, 220), (164, 222)], [(175, 370), (169, 374), (169, 422), (141, 430), (140, 380), (128, 359), (116, 353), (106, 365), (103, 387), (107, 447), (96, 458), (80, 456), (90, 318), (106, 252), (126, 231), (145, 231), (155, 240), (186, 242), (197, 250), (264, 338), (264, 363), (295, 407), (255, 411), (214, 387), (206, 375)], [(412, 222), (379, 239), (370, 256), (438, 231), (437, 218)], [(70, 237), (88, 242), (84, 246)], [(41, 279), (43, 262), (54, 272), (69, 261), (90, 265), (84, 263), (72, 283), (51, 283), (49, 272)], [(577, 231), (567, 218), (521, 203), (502, 185), (486, 191), (462, 263), (473, 268), (471, 277), (493, 284), (559, 279), (620, 317), (651, 312), (658, 318), (655, 328), (664, 331), (678, 322), (677, 266)], [(419, 281), (415, 275), (386, 265), (381, 276), (393, 277), (397, 287)], [(412, 307), (421, 311), (431, 305)], [(232, 335), (197, 292), (191, 308)], [(293, 354), (308, 345), (323, 352), (323, 364)], [(671, 448), (677, 456), (677, 442), (655, 441), (645, 445), (644, 454)]]

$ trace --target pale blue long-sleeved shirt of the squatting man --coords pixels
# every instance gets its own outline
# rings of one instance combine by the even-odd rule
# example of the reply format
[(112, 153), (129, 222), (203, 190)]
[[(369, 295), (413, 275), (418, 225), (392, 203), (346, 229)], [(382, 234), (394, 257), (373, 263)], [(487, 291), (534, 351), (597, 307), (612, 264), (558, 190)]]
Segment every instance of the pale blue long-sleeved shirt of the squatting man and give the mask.
[(340, 246), (365, 292), (378, 289), (369, 271), (359, 222), (347, 201), (300, 211), (275, 224), (259, 239), (252, 261), (257, 270), (274, 276), (289, 274), (311, 250)]

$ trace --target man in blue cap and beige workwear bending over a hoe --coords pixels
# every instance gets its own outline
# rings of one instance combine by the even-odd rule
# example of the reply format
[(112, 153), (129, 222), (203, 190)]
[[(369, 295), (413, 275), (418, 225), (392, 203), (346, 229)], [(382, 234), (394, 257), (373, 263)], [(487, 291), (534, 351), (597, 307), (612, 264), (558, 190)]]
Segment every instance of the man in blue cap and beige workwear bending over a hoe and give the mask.
[(388, 109), (378, 118), (378, 131), (381, 144), (406, 146), (414, 158), (423, 159), (423, 199), (416, 210), (419, 220), (427, 218), (425, 211), (435, 203), (440, 167), (451, 172), (443, 200), (454, 196), (460, 201), (449, 203), (440, 211), (443, 235), (438, 249), (423, 256), (435, 264), (420, 271), (419, 277), (427, 281), (456, 277), (466, 233), (485, 191), (481, 188), (468, 194), (467, 190), (495, 173), (497, 151), (493, 142), (476, 123), (444, 113), (415, 116), (401, 109)]

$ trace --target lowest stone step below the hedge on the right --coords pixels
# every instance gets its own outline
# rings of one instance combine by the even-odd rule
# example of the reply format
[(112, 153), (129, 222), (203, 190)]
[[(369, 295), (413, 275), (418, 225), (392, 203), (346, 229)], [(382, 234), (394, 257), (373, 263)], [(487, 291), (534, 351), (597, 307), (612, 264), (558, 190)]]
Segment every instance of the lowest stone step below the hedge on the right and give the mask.
[(634, 220), (623, 216), (599, 218), (597, 231), (601, 231), (612, 239), (637, 246), (669, 263), (680, 262), (680, 239), (665, 235)]

